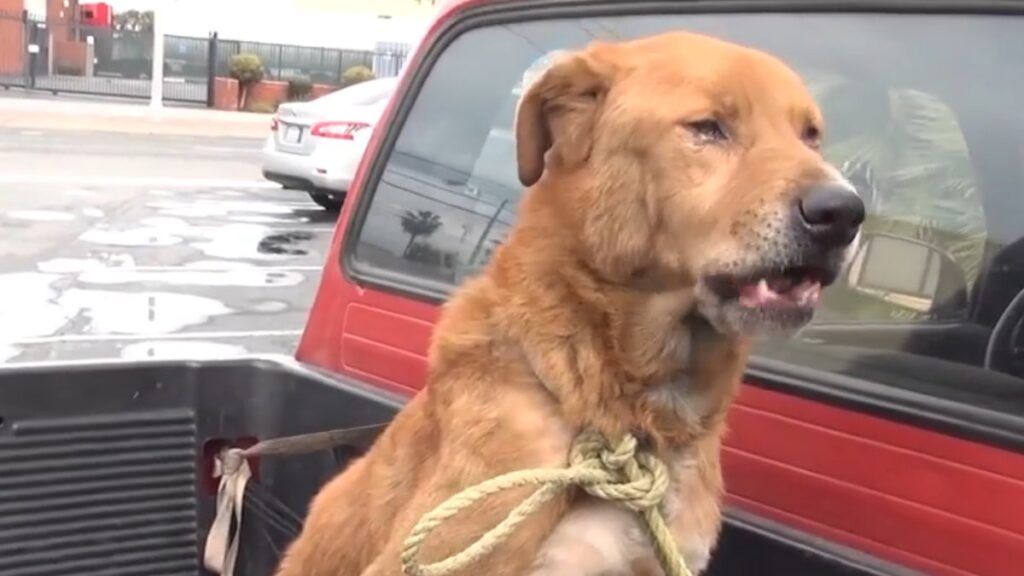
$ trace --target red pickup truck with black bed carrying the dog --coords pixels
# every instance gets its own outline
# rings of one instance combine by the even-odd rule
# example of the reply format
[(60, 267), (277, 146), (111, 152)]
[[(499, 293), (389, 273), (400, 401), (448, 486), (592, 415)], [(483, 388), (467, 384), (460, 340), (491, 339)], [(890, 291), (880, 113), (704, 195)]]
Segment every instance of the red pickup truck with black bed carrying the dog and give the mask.
[[(223, 447), (385, 422), (422, 386), (438, 304), (515, 220), (524, 80), (669, 29), (797, 68), (870, 211), (815, 322), (758, 345), (708, 573), (1024, 574), (1024, 2), (1007, 0), (449, 3), (348, 192), (295, 359), (0, 369), (0, 574), (205, 573)], [(236, 574), (271, 574), (364, 448), (254, 460)]]

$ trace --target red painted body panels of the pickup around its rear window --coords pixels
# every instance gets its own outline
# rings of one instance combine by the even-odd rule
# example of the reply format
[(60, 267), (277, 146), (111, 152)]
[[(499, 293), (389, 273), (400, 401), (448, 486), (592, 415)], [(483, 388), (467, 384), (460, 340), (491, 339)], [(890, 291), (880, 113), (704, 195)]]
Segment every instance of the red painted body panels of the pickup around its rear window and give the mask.
[[(424, 44), (447, 18), (480, 2), (451, 3)], [(422, 64), (422, 54), (413, 55), (409, 69)], [(404, 93), (408, 82), (395, 93)], [(379, 148), (385, 131), (375, 131), (369, 150)], [(356, 286), (339, 265), (370, 158), (338, 220), (297, 357), (413, 394), (424, 384), (438, 308)], [(732, 504), (927, 574), (1021, 574), (1024, 454), (755, 385), (744, 385), (731, 428), (724, 467)]]

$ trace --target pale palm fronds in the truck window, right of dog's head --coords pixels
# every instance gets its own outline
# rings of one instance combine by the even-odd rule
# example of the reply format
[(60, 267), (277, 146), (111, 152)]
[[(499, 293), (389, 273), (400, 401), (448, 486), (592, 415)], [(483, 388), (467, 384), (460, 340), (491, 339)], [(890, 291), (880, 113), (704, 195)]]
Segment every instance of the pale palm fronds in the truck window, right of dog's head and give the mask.
[(829, 124), (825, 155), (868, 204), (865, 232), (888, 232), (948, 252), (970, 289), (985, 247), (985, 220), (967, 141), (938, 97), (855, 79), (812, 85)]

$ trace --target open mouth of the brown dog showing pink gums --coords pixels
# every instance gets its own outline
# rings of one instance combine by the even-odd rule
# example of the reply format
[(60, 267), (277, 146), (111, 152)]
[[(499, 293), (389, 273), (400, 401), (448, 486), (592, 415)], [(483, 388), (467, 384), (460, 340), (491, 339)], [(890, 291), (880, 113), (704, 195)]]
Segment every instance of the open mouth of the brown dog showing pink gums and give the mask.
[(792, 265), (741, 275), (717, 275), (708, 286), (723, 301), (752, 310), (814, 308), (836, 272), (820, 265)]

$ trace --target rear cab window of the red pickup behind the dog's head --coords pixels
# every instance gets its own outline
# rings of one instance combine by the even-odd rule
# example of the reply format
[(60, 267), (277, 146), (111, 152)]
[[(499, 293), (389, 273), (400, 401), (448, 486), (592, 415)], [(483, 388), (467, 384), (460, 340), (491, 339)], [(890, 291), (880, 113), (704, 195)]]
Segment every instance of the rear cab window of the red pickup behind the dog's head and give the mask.
[[(961, 20), (955, 49), (942, 32), (951, 19)], [(709, 33), (778, 54), (801, 72), (826, 116), (825, 154), (869, 211), (862, 250), (814, 323), (795, 340), (759, 344), (757, 356), (1024, 415), (1017, 331), (1004, 328), (1010, 335), (992, 343), (995, 319), (1024, 289), (1024, 273), (986, 272), (1024, 236), (1024, 219), (1006, 215), (1024, 213), (1024, 182), (1019, 162), (989, 160), (979, 173), (979, 155), (989, 156), (976, 148), (983, 140), (967, 136), (971, 122), (1021, 133), (1024, 115), (1013, 102), (1024, 96), (1024, 79), (999, 73), (1010, 60), (971, 55), (1018, 46), (1018, 23), (669, 14), (469, 31), (434, 64), (381, 177), (364, 192), (370, 205), (349, 242), (351, 272), (443, 297), (486, 263), (515, 221), (521, 187), (512, 122), (525, 78), (552, 54), (593, 39)], [(1004, 295), (983, 297), (993, 278)], [(993, 355), (993, 345), (1006, 349)]]

